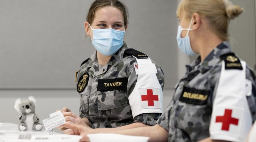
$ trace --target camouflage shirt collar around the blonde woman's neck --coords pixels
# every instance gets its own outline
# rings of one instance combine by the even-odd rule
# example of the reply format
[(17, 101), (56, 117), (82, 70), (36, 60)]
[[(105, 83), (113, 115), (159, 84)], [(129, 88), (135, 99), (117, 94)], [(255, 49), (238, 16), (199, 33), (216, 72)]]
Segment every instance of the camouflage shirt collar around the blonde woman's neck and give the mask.
[(187, 71), (189, 72), (193, 68), (197, 68), (198, 71), (205, 73), (220, 61), (221, 55), (229, 52), (231, 52), (230, 45), (228, 41), (224, 41), (215, 49), (213, 49), (212, 52), (204, 59), (203, 62), (201, 62), (201, 56), (199, 56), (190, 65), (186, 65)]

